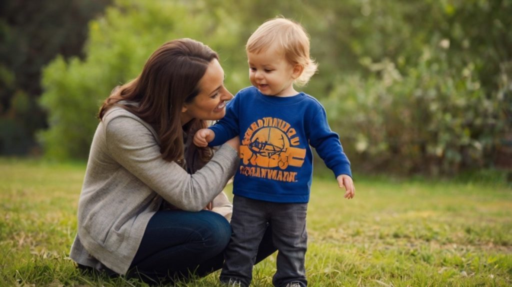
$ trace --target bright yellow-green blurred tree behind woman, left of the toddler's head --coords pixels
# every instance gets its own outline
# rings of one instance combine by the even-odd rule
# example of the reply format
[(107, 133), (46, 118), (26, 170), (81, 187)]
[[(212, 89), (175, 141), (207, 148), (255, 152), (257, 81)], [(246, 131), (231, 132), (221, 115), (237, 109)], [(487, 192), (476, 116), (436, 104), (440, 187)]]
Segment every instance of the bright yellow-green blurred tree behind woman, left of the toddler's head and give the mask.
[[(136, 77), (151, 53), (168, 40), (190, 37), (206, 43), (219, 53), (226, 86), (233, 93), (249, 85), (244, 46), (250, 33), (283, 11), (303, 9), (270, 1), (261, 6), (268, 10), (257, 9), (260, 5), (234, 0), (115, 1), (104, 17), (91, 22), (86, 58), (58, 57), (44, 71), (40, 103), (49, 113), (50, 128), (40, 140), (47, 155), (86, 158), (99, 104), (114, 86)], [(259, 12), (252, 15), (254, 11)]]

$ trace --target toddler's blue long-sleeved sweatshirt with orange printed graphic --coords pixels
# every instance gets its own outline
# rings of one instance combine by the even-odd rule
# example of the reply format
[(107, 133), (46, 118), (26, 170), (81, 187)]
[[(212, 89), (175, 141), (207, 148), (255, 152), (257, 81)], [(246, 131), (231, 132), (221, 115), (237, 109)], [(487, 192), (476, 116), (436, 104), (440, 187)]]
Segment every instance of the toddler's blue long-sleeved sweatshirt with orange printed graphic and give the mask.
[(227, 104), (226, 116), (210, 129), (215, 132), (210, 146), (240, 137), (240, 167), (233, 183), (236, 195), (307, 203), (313, 174), (310, 145), (335, 176), (352, 176), (324, 107), (305, 93), (275, 97), (247, 87)]

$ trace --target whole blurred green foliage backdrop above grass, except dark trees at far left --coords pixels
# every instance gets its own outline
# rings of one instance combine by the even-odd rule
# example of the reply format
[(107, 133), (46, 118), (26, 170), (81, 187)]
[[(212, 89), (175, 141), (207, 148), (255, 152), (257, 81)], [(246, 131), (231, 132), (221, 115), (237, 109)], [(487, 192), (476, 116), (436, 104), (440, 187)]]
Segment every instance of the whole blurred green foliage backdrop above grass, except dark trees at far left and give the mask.
[(505, 0), (119, 0), (90, 23), (86, 58), (45, 69), (50, 128), (40, 139), (52, 157), (87, 157), (100, 102), (175, 38), (218, 51), (237, 92), (250, 84), (246, 39), (283, 15), (311, 36), (319, 73), (304, 91), (328, 108), (355, 170), (510, 167), (498, 162), (512, 155), (510, 14)]

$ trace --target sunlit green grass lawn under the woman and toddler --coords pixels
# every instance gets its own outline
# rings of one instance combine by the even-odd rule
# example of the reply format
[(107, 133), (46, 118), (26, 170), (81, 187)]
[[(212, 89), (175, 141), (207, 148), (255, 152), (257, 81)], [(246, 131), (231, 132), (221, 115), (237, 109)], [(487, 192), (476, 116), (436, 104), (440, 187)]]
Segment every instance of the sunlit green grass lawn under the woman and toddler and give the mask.
[[(83, 274), (67, 257), (84, 170), (0, 159), (0, 286), (145, 286)], [(347, 201), (334, 179), (313, 180), (310, 286), (512, 285), (510, 185), (356, 176), (356, 188)], [(271, 285), (274, 271), (275, 254), (255, 267), (252, 286)], [(220, 286), (217, 277), (177, 285)]]

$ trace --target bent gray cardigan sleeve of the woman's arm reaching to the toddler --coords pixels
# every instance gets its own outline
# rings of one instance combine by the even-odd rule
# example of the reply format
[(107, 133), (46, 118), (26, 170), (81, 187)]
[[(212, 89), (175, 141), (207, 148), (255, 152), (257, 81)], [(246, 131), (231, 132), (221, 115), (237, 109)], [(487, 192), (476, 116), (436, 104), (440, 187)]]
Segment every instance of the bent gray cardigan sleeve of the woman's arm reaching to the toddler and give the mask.
[(214, 200), (238, 163), (237, 151), (223, 145), (203, 168), (188, 174), (177, 163), (162, 159), (151, 131), (131, 117), (106, 122), (105, 139), (115, 161), (182, 210), (199, 211)]

